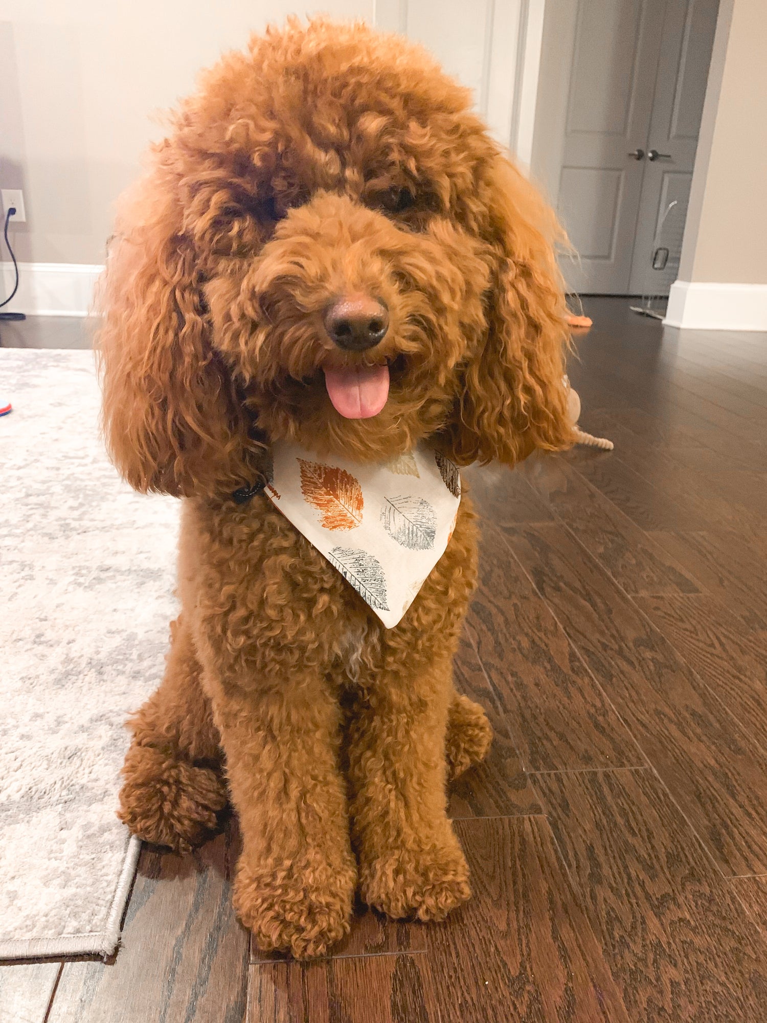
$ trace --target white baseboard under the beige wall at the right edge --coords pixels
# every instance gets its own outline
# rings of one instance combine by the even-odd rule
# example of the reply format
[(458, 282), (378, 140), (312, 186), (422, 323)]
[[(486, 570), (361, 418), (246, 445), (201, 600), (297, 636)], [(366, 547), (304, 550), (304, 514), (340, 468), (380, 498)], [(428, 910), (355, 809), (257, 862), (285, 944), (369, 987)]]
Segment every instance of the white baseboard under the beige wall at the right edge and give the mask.
[(691, 330), (767, 330), (767, 284), (675, 280), (664, 323)]

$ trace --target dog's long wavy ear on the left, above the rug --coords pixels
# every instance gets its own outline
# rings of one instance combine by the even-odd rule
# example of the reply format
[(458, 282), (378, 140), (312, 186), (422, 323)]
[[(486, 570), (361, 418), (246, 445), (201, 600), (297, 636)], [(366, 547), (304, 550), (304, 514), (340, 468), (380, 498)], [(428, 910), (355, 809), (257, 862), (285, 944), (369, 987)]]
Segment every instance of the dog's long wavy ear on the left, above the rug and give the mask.
[(167, 184), (124, 199), (99, 282), (103, 425), (116, 465), (137, 490), (229, 493), (253, 479), (259, 449), (210, 345), (195, 254)]

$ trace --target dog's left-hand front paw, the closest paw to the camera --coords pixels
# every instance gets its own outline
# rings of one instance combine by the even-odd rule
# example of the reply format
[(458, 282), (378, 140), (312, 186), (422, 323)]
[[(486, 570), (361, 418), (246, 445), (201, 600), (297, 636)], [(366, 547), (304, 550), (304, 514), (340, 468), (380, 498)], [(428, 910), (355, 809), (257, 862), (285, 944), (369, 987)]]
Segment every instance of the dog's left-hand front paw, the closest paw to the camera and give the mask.
[(314, 959), (349, 933), (356, 883), (351, 857), (341, 869), (262, 863), (252, 870), (240, 861), (234, 908), (262, 951)]

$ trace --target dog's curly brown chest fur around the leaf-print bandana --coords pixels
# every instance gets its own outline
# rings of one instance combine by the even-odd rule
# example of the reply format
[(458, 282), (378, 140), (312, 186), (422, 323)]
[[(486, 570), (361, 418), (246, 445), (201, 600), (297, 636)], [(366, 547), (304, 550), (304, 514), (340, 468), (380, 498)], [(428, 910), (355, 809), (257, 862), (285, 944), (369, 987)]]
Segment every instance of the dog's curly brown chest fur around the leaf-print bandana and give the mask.
[[(180, 593), (200, 622), (249, 664), (279, 656), (342, 668), (352, 682), (378, 671), (392, 642), (413, 656), (446, 640), (476, 574), (470, 503), (412, 608), (393, 629), (264, 496), (243, 507), (185, 502)], [(303, 653), (302, 653), (303, 652)]]

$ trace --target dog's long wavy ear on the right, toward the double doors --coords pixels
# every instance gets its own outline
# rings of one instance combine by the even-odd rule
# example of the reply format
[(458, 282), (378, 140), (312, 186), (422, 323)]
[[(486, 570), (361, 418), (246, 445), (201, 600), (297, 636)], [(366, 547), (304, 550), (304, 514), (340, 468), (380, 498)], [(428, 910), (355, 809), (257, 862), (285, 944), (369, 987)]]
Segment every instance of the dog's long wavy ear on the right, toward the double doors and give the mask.
[(502, 157), (479, 187), (491, 264), (488, 326), (463, 370), (450, 446), (462, 464), (513, 465), (535, 448), (572, 443), (562, 384), (569, 335), (553, 250), (560, 231), (535, 187)]

